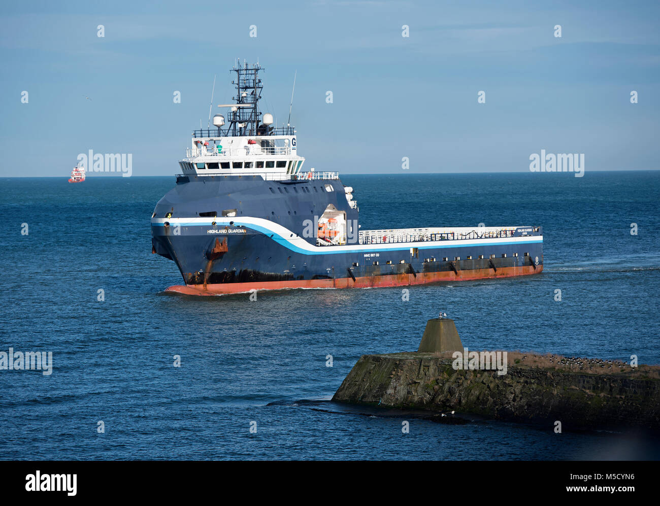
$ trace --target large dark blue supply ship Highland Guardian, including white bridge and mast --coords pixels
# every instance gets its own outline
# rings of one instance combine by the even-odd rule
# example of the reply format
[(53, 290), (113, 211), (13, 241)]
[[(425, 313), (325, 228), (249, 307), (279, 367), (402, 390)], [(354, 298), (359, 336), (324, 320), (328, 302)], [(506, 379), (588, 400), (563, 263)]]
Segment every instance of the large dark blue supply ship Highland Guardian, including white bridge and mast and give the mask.
[(360, 230), (353, 189), (337, 172), (305, 168), (296, 130), (259, 111), (261, 69), (232, 69), (234, 102), (218, 106), (226, 119), (193, 131), (176, 186), (151, 216), (152, 253), (174, 261), (185, 282), (166, 291), (407, 286), (543, 270), (537, 226)]

